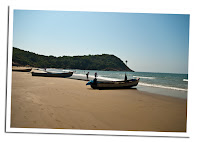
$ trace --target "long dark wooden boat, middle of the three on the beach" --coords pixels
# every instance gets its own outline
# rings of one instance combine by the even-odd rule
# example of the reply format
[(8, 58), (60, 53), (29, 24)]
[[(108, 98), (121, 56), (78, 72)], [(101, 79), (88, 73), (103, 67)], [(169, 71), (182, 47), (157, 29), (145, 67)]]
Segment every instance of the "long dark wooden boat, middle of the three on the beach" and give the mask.
[(43, 77), (70, 77), (73, 72), (67, 73), (52, 73), (52, 72), (32, 72), (32, 76), (43, 76)]

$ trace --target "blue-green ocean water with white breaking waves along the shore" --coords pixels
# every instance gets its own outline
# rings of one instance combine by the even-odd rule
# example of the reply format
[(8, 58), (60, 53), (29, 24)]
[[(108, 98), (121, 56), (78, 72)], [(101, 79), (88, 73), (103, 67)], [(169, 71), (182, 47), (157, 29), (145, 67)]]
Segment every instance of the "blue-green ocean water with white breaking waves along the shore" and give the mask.
[(98, 70), (76, 70), (76, 69), (47, 69), (52, 72), (74, 71), (71, 78), (86, 79), (89, 72), (89, 79), (94, 78), (97, 72), (97, 79), (108, 81), (124, 80), (125, 73), (128, 79), (140, 78), (138, 90), (172, 96), (187, 98), (188, 74), (177, 73), (153, 73), (153, 72), (124, 72), (124, 71), (98, 71)]

